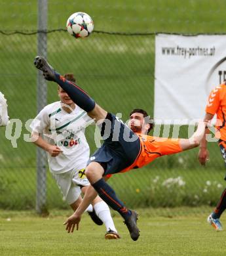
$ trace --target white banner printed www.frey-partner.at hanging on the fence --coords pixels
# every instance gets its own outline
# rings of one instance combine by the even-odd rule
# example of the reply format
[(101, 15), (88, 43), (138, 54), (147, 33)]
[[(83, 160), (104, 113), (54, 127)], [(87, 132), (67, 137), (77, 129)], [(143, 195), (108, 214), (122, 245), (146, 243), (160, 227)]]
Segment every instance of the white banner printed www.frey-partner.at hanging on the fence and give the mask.
[(208, 95), (226, 80), (226, 35), (155, 37), (156, 123), (203, 119)]

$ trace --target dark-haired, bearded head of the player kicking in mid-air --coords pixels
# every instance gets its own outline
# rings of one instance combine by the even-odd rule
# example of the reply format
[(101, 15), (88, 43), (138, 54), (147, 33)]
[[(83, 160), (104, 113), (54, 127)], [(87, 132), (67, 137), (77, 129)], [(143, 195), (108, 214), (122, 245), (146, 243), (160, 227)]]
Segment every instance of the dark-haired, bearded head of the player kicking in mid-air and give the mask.
[(147, 130), (148, 130), (148, 126), (145, 123), (143, 114), (141, 113), (133, 113), (130, 116), (130, 121), (128, 122), (128, 126), (134, 133), (147, 133)]

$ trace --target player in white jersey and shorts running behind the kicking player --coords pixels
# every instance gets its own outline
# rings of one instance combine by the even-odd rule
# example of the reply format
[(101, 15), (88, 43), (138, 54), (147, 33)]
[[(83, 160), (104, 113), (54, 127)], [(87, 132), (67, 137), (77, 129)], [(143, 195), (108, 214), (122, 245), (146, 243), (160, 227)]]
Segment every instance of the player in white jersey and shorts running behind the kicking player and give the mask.
[[(65, 77), (75, 81), (73, 74), (66, 74)], [(92, 119), (75, 105), (61, 87), (58, 87), (58, 95), (60, 101), (45, 106), (33, 119), (32, 137), (37, 146), (47, 151), (50, 172), (66, 202), (75, 211), (82, 202), (81, 191), (85, 194), (90, 184), (85, 176), (90, 155), (85, 127), (92, 123)], [(109, 207), (99, 196), (86, 210), (96, 224), (105, 224), (105, 239), (120, 238)]]

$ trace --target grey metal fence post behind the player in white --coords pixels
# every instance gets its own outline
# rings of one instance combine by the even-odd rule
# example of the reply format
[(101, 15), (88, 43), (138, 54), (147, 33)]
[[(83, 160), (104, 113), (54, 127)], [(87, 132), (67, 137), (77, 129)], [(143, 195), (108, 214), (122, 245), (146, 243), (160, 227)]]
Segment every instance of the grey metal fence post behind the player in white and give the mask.
[[(37, 0), (38, 5), (38, 30), (37, 54), (47, 58), (47, 10), (48, 0)], [(41, 32), (40, 32), (41, 31)], [(37, 74), (37, 112), (47, 105), (47, 82), (41, 72)], [(47, 156), (44, 150), (37, 148), (37, 190), (36, 211), (47, 211)]]

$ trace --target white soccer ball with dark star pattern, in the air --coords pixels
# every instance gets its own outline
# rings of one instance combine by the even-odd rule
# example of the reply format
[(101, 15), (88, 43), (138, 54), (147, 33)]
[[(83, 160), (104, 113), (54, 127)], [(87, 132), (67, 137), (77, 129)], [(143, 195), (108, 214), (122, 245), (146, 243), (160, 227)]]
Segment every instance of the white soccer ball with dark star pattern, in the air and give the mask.
[(94, 30), (92, 18), (85, 12), (75, 12), (67, 19), (67, 32), (73, 37), (88, 37)]

